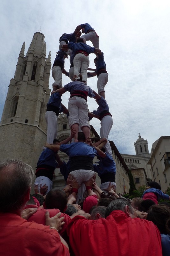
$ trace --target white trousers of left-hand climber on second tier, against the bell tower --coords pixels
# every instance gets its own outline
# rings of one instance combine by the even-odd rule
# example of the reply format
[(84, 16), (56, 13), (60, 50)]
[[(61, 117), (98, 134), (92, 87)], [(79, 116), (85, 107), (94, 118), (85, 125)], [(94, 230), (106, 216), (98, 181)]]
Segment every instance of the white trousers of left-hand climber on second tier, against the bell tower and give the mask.
[(53, 144), (53, 140), (57, 137), (58, 124), (57, 115), (53, 111), (46, 111), (45, 119), (47, 123), (47, 140), (48, 144)]

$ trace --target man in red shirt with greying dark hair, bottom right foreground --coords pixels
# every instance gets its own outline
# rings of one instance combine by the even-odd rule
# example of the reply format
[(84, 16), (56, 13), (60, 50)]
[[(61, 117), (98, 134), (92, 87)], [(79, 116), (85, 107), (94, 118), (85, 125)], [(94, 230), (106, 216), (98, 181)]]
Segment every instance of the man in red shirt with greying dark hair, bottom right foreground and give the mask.
[(162, 256), (158, 228), (150, 221), (136, 218), (131, 204), (124, 199), (108, 205), (105, 219), (74, 217), (68, 224), (67, 235), (75, 256)]

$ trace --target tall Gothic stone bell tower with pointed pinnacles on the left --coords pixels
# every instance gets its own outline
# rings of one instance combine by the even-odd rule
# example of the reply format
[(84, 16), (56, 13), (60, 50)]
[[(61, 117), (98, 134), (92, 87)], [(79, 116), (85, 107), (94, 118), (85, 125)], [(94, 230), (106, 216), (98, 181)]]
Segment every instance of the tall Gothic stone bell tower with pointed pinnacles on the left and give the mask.
[(50, 97), (50, 52), (46, 59), (45, 36), (36, 32), (29, 49), (19, 53), (0, 123), (0, 159), (21, 159), (35, 170), (46, 142), (44, 115)]

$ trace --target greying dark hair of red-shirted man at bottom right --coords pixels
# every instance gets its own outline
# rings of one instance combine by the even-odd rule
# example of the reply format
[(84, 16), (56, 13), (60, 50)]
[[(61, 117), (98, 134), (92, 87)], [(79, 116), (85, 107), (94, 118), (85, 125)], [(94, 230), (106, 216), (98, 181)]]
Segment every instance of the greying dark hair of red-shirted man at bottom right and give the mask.
[(131, 214), (134, 214), (134, 209), (133, 207), (131, 206), (131, 203), (125, 199), (116, 199), (116, 200), (113, 200), (106, 208), (106, 211), (105, 211), (105, 218), (108, 217), (110, 215), (111, 212), (115, 211), (115, 210), (121, 210), (123, 212), (125, 212), (125, 207), (126, 205), (128, 205), (129, 207), (129, 212)]

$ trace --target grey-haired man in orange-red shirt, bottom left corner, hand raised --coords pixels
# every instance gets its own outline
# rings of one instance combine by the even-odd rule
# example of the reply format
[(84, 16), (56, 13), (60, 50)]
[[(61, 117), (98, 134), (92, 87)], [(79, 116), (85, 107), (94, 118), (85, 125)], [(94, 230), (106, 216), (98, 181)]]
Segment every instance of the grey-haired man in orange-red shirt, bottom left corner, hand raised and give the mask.
[(60, 213), (46, 212), (46, 226), (21, 217), (30, 197), (33, 169), (19, 160), (0, 161), (0, 255), (69, 256), (68, 245), (58, 231)]

